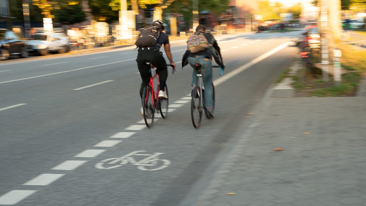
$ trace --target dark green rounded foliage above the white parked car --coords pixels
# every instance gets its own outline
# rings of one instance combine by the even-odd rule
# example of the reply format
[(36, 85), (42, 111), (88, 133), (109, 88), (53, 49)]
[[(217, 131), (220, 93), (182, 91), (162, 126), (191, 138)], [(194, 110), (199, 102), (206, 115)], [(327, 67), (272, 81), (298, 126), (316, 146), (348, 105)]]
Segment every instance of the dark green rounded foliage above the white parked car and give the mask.
[(80, 4), (61, 5), (60, 10), (55, 11), (55, 22), (66, 25), (86, 21), (86, 14)]

